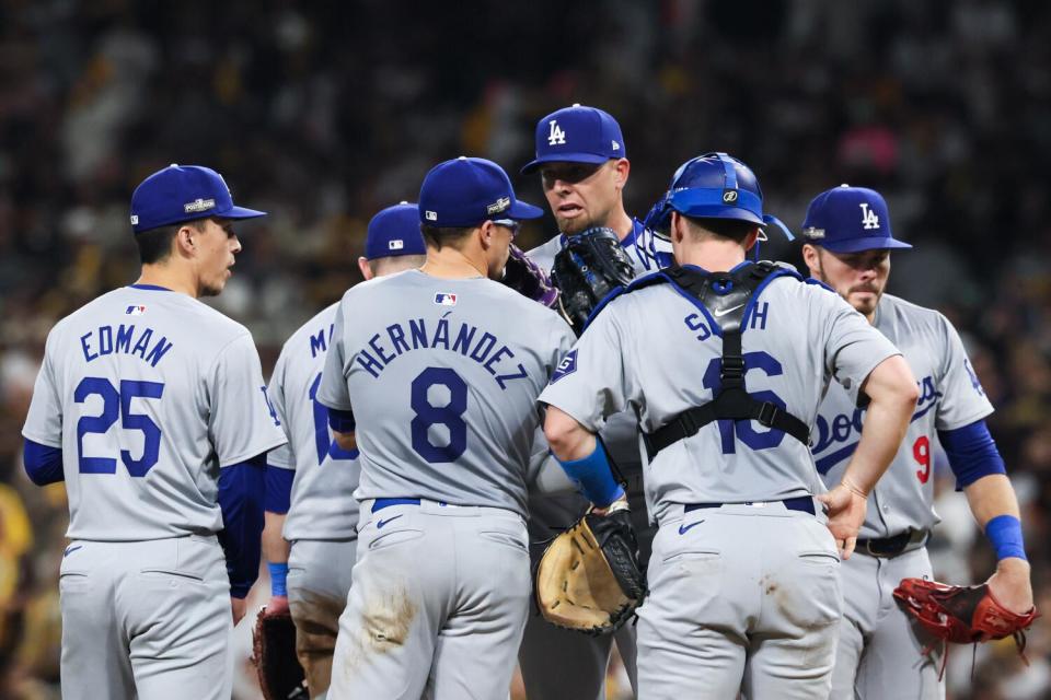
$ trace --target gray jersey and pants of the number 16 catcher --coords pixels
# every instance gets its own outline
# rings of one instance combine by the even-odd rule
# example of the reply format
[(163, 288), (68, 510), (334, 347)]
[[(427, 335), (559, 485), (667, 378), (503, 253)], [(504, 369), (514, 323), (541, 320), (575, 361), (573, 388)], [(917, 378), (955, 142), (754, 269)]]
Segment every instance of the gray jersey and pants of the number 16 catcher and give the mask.
[[(897, 353), (833, 292), (794, 279), (767, 283), (741, 328), (748, 392), (810, 424), (830, 378), (856, 396)], [(540, 400), (591, 431), (631, 410), (652, 432), (714, 398), (721, 346), (718, 317), (700, 302), (670, 284), (638, 289), (592, 320)], [(777, 502), (823, 490), (807, 445), (721, 420), (644, 474), (660, 528), (637, 626), (639, 697), (732, 697), (743, 678), (749, 697), (827, 698), (842, 605), (835, 546), (810, 513)], [(799, 658), (807, 674), (786, 673)]]

